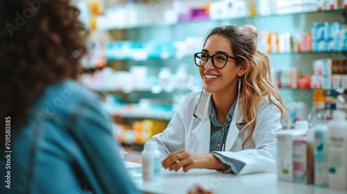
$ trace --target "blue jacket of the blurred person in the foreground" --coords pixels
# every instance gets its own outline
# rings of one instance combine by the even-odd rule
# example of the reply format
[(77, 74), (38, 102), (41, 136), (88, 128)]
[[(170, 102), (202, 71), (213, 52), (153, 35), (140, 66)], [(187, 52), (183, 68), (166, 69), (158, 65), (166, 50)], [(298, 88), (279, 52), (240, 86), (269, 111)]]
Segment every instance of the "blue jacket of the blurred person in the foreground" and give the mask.
[(12, 130), (11, 189), (1, 191), (139, 193), (102, 106), (74, 80), (47, 87), (28, 109), (28, 123)]

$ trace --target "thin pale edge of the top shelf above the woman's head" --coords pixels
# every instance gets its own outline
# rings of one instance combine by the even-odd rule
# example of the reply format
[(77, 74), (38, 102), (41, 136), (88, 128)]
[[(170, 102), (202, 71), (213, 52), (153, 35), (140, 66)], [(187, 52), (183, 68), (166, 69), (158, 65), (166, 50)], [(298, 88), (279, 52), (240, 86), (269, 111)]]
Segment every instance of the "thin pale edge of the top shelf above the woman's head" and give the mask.
[(255, 16), (242, 16), (242, 17), (228, 17), (228, 18), (221, 18), (221, 19), (196, 19), (196, 20), (188, 20), (188, 21), (178, 21), (176, 23), (155, 23), (155, 24), (142, 24), (138, 26), (114, 26), (114, 27), (108, 27), (108, 28), (101, 28), (99, 30), (130, 30), (135, 28), (151, 28), (151, 27), (163, 27), (163, 26), (176, 26), (180, 24), (196, 24), (198, 22), (205, 22), (205, 21), (230, 21), (230, 20), (237, 20), (237, 19), (256, 19), (256, 18), (265, 18), (265, 17), (281, 17), (281, 16), (287, 16), (287, 15), (307, 15), (307, 14), (314, 14), (314, 13), (342, 13), (346, 12), (346, 8), (339, 8), (336, 10), (312, 10), (307, 12), (288, 12), (288, 13), (281, 13), (281, 14), (273, 14), (273, 15), (255, 15)]

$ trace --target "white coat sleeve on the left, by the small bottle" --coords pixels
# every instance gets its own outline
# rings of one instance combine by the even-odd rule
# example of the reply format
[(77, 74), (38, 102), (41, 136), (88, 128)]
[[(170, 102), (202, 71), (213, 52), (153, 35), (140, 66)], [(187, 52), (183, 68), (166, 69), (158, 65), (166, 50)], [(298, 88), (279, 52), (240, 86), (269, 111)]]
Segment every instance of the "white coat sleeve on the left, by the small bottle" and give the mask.
[(160, 134), (152, 136), (149, 141), (155, 141), (158, 143), (158, 150), (160, 152), (160, 159), (164, 159), (171, 152), (185, 148), (185, 125), (183, 119), (186, 118), (187, 112), (187, 100), (189, 96), (185, 98), (183, 104), (178, 111), (171, 118), (167, 128)]

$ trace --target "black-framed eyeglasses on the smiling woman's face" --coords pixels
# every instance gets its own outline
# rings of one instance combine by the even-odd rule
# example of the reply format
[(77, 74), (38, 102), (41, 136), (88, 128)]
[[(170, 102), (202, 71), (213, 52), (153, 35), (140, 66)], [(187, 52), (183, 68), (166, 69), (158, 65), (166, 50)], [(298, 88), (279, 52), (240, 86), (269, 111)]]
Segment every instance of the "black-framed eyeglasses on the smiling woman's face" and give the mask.
[(227, 54), (214, 54), (214, 55), (208, 55), (207, 53), (194, 53), (194, 61), (196, 66), (198, 67), (204, 67), (206, 63), (208, 63), (208, 60), (212, 60), (212, 65), (216, 67), (217, 69), (222, 69), (226, 66), (226, 63), (228, 62), (228, 58), (235, 60), (236, 62), (239, 62), (239, 58), (230, 57)]

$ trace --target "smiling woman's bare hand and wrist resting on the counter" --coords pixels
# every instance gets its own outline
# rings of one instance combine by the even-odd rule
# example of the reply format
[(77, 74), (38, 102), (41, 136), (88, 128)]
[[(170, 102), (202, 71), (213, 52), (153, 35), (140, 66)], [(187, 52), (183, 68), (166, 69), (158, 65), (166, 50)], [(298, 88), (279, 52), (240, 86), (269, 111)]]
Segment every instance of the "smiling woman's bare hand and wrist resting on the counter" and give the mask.
[(187, 150), (172, 152), (162, 161), (162, 167), (175, 171), (182, 167), (184, 172), (192, 168), (228, 169), (228, 165), (221, 163), (212, 154), (197, 154)]

